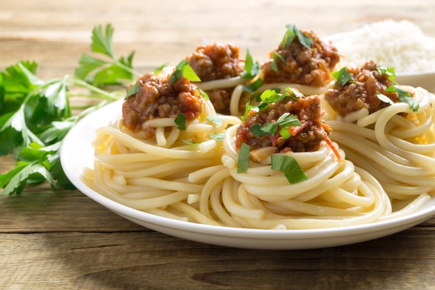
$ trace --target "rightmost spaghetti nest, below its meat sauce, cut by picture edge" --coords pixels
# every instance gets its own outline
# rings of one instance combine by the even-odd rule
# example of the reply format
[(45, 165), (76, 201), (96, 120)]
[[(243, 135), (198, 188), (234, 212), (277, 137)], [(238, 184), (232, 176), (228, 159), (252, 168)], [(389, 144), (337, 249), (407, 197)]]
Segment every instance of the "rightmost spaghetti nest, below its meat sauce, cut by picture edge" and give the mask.
[[(435, 191), (435, 97), (422, 88), (397, 89), (413, 95), (416, 104), (397, 100), (377, 110), (366, 107), (343, 115), (331, 106), (329, 91), (323, 108), (331, 140), (345, 150), (347, 159), (375, 176), (391, 200), (409, 202)], [(349, 97), (347, 102), (356, 101)]]

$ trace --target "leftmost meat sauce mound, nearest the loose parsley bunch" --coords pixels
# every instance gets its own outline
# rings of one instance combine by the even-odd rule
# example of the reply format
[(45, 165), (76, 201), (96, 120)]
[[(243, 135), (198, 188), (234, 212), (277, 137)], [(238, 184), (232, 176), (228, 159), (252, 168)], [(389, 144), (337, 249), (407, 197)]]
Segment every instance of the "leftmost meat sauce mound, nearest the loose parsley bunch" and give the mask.
[(154, 72), (140, 77), (140, 91), (122, 104), (122, 120), (132, 131), (144, 130), (145, 136), (154, 136), (154, 128), (142, 128), (147, 120), (176, 118), (179, 113), (193, 120), (202, 113), (204, 100), (197, 87), (184, 76), (170, 83), (170, 75), (158, 78)]

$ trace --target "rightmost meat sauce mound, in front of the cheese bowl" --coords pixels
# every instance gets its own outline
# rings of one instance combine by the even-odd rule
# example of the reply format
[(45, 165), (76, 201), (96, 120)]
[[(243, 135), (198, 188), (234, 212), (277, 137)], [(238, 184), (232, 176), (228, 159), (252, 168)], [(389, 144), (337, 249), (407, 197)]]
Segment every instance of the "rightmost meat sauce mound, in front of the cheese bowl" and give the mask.
[(368, 61), (362, 67), (350, 67), (347, 71), (352, 76), (344, 86), (335, 83), (334, 88), (325, 92), (325, 99), (334, 108), (338, 115), (345, 117), (349, 113), (367, 108), (369, 113), (388, 106), (376, 95), (376, 92), (389, 97), (393, 102), (400, 102), (396, 92), (386, 92), (388, 86), (394, 83), (388, 79), (387, 74), (381, 74), (377, 70), (374, 61)]

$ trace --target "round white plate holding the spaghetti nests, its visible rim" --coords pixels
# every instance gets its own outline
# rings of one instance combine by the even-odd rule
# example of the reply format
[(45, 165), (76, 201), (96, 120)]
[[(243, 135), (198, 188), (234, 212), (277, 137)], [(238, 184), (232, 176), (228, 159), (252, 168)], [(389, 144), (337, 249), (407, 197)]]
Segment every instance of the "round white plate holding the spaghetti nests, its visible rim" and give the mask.
[(238, 229), (232, 227), (218, 227), (200, 225), (197, 223), (183, 222), (146, 214), (136, 209), (131, 209), (122, 204), (105, 198), (83, 184), (80, 175), (83, 168), (92, 168), (95, 129), (105, 126), (121, 115), (122, 102), (109, 104), (98, 111), (91, 113), (81, 120), (69, 131), (65, 137), (60, 152), (60, 161), (69, 180), (85, 195), (102, 204), (116, 214), (157, 232), (177, 236), (182, 239), (224, 245), (236, 248), (258, 249), (307, 249), (325, 248), (336, 245), (347, 245), (377, 239), (400, 232), (435, 214), (435, 200), (431, 200), (424, 209), (416, 214), (402, 218), (388, 220), (368, 225), (331, 229)]

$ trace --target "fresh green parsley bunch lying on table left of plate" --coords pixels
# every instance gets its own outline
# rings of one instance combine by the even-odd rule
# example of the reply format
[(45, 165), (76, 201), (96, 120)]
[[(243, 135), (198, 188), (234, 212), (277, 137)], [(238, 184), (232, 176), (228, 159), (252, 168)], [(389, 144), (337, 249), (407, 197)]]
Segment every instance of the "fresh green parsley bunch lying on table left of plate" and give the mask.
[[(110, 56), (112, 61), (98, 61), (83, 54), (75, 76), (42, 80), (37, 76), (38, 63), (34, 61), (19, 61), (0, 72), (0, 155), (12, 153), (16, 160), (12, 170), (0, 175), (2, 195), (22, 193), (27, 184), (44, 180), (54, 190), (74, 188), (60, 166), (63, 138), (84, 115), (120, 99), (120, 90), (109, 92), (97, 86), (131, 79), (133, 75), (133, 54), (115, 61), (110, 24), (105, 31), (101, 26), (92, 31), (91, 48)], [(90, 77), (94, 70), (97, 72)], [(70, 97), (100, 102), (74, 107)], [(74, 115), (74, 108), (81, 112)]]

